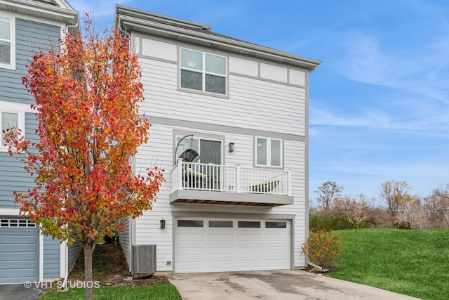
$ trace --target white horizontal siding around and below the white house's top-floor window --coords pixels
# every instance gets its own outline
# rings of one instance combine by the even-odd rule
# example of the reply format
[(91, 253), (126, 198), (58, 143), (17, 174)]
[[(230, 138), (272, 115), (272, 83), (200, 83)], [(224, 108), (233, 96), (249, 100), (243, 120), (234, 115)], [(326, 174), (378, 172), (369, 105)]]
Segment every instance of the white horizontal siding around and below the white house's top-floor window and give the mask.
[[(305, 136), (305, 89), (229, 75), (229, 99), (177, 90), (177, 65), (140, 58), (145, 102), (152, 117)], [(201, 113), (199, 113), (201, 112)]]

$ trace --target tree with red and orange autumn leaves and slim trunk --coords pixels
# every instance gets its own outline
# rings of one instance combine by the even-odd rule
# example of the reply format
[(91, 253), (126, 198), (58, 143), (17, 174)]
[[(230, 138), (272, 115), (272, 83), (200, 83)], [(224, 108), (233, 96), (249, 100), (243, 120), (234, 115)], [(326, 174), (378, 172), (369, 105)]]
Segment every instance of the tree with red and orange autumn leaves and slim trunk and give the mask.
[[(5, 134), (9, 154), (22, 153), (36, 183), (15, 193), (22, 214), (41, 223), (43, 234), (81, 242), (86, 282), (98, 237), (151, 209), (163, 181), (156, 167), (141, 176), (129, 164), (150, 126), (139, 115), (140, 76), (128, 38), (115, 30), (99, 34), (88, 19), (84, 37), (67, 34), (60, 50), (39, 49), (23, 78), (36, 100), (39, 143), (14, 129)], [(86, 288), (87, 299), (92, 292)]]

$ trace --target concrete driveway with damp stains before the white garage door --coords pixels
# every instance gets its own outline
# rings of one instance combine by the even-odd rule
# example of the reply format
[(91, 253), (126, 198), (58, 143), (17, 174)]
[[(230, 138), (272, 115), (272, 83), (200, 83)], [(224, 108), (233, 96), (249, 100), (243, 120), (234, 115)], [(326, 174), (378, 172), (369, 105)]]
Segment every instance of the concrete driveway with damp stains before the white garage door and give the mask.
[(417, 299), (304, 270), (169, 275), (184, 300)]

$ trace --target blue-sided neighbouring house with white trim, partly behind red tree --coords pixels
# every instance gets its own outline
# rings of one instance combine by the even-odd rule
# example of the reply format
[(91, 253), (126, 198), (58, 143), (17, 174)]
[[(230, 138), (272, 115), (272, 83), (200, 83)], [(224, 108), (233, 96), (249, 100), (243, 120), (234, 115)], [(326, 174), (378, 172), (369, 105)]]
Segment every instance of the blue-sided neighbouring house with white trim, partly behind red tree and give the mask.
[[(65, 0), (0, 0), (0, 132), (18, 127), (36, 141), (34, 99), (22, 85), (25, 65), (37, 46), (58, 46), (64, 32), (78, 28), (78, 12)], [(40, 235), (39, 224), (19, 216), (13, 192), (27, 192), (34, 181), (6, 150), (1, 135), (0, 284), (65, 278), (79, 247)]]

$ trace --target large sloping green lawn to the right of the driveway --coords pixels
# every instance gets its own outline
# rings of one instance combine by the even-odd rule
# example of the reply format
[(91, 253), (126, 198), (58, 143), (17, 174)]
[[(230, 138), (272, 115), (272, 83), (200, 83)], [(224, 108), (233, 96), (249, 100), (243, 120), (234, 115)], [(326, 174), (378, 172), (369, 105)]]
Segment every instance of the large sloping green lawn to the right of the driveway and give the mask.
[(421, 299), (448, 299), (449, 228), (334, 233), (344, 254), (328, 276)]

